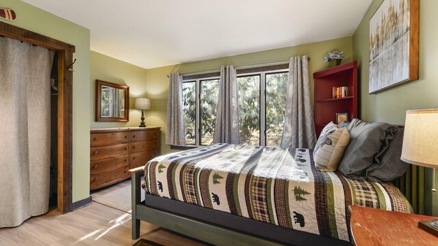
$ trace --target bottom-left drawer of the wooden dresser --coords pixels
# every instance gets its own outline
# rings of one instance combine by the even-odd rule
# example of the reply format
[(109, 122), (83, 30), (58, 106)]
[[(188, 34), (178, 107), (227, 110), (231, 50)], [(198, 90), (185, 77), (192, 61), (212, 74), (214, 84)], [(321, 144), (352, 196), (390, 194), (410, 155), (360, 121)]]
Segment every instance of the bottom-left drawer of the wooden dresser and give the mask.
[(130, 177), (128, 172), (129, 166), (118, 167), (107, 172), (100, 172), (99, 174), (90, 174), (90, 189), (97, 189), (105, 187), (121, 180)]

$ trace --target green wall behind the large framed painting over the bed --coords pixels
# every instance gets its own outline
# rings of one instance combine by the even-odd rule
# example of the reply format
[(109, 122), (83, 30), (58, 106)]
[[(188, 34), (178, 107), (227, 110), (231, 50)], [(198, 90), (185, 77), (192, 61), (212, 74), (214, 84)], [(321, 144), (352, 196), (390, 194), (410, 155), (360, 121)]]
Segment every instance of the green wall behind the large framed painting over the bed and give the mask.
[[(420, 1), (420, 79), (377, 94), (368, 94), (369, 20), (382, 2), (383, 0), (372, 2), (352, 37), (353, 59), (359, 63), (360, 115), (368, 122), (404, 124), (408, 109), (438, 108), (438, 49), (436, 48), (438, 1)], [(432, 185), (430, 169), (426, 171), (426, 180), (428, 180), (425, 191), (425, 202), (428, 204), (426, 213), (438, 216), (438, 195), (432, 195), (430, 192)], [(438, 182), (438, 177), (435, 182)]]

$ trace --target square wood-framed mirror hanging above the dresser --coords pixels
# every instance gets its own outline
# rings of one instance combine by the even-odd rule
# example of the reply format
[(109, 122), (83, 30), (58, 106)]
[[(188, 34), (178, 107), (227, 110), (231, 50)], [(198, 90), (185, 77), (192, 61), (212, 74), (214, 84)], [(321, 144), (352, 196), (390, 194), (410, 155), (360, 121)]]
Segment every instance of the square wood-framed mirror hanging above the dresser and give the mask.
[(96, 79), (96, 121), (129, 122), (129, 86)]

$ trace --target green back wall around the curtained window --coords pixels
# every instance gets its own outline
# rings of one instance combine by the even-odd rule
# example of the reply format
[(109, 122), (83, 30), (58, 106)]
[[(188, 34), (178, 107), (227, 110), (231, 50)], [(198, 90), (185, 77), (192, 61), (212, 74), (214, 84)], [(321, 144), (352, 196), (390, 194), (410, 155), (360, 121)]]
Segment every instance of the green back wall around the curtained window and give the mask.
[(309, 61), (309, 77), (311, 79), (311, 95), (313, 95), (313, 72), (329, 68), (329, 64), (324, 62), (323, 58), (326, 53), (333, 49), (341, 49), (344, 51), (346, 58), (343, 62), (352, 61), (352, 37), (346, 37), (311, 44), (302, 44), (283, 49), (273, 49), (269, 51), (148, 69), (146, 74), (146, 96), (151, 98), (152, 110), (151, 112), (148, 112), (147, 120), (151, 125), (162, 127), (162, 152), (171, 152), (170, 146), (164, 144), (168, 98), (168, 78), (166, 75), (170, 72), (197, 72), (218, 69), (222, 65), (234, 65), (238, 67), (274, 61), (288, 61), (292, 56), (307, 55), (311, 57), (311, 60)]

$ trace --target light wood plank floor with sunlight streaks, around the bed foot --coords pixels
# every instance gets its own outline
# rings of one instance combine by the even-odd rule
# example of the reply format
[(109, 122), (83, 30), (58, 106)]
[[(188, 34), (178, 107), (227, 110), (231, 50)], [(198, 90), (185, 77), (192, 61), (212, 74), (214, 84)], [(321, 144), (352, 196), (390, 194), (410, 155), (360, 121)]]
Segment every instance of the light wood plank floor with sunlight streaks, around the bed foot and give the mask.
[[(140, 237), (164, 245), (203, 245), (142, 221)], [(92, 203), (62, 215), (52, 210), (16, 228), (0, 229), (0, 245), (133, 245), (131, 215)]]

